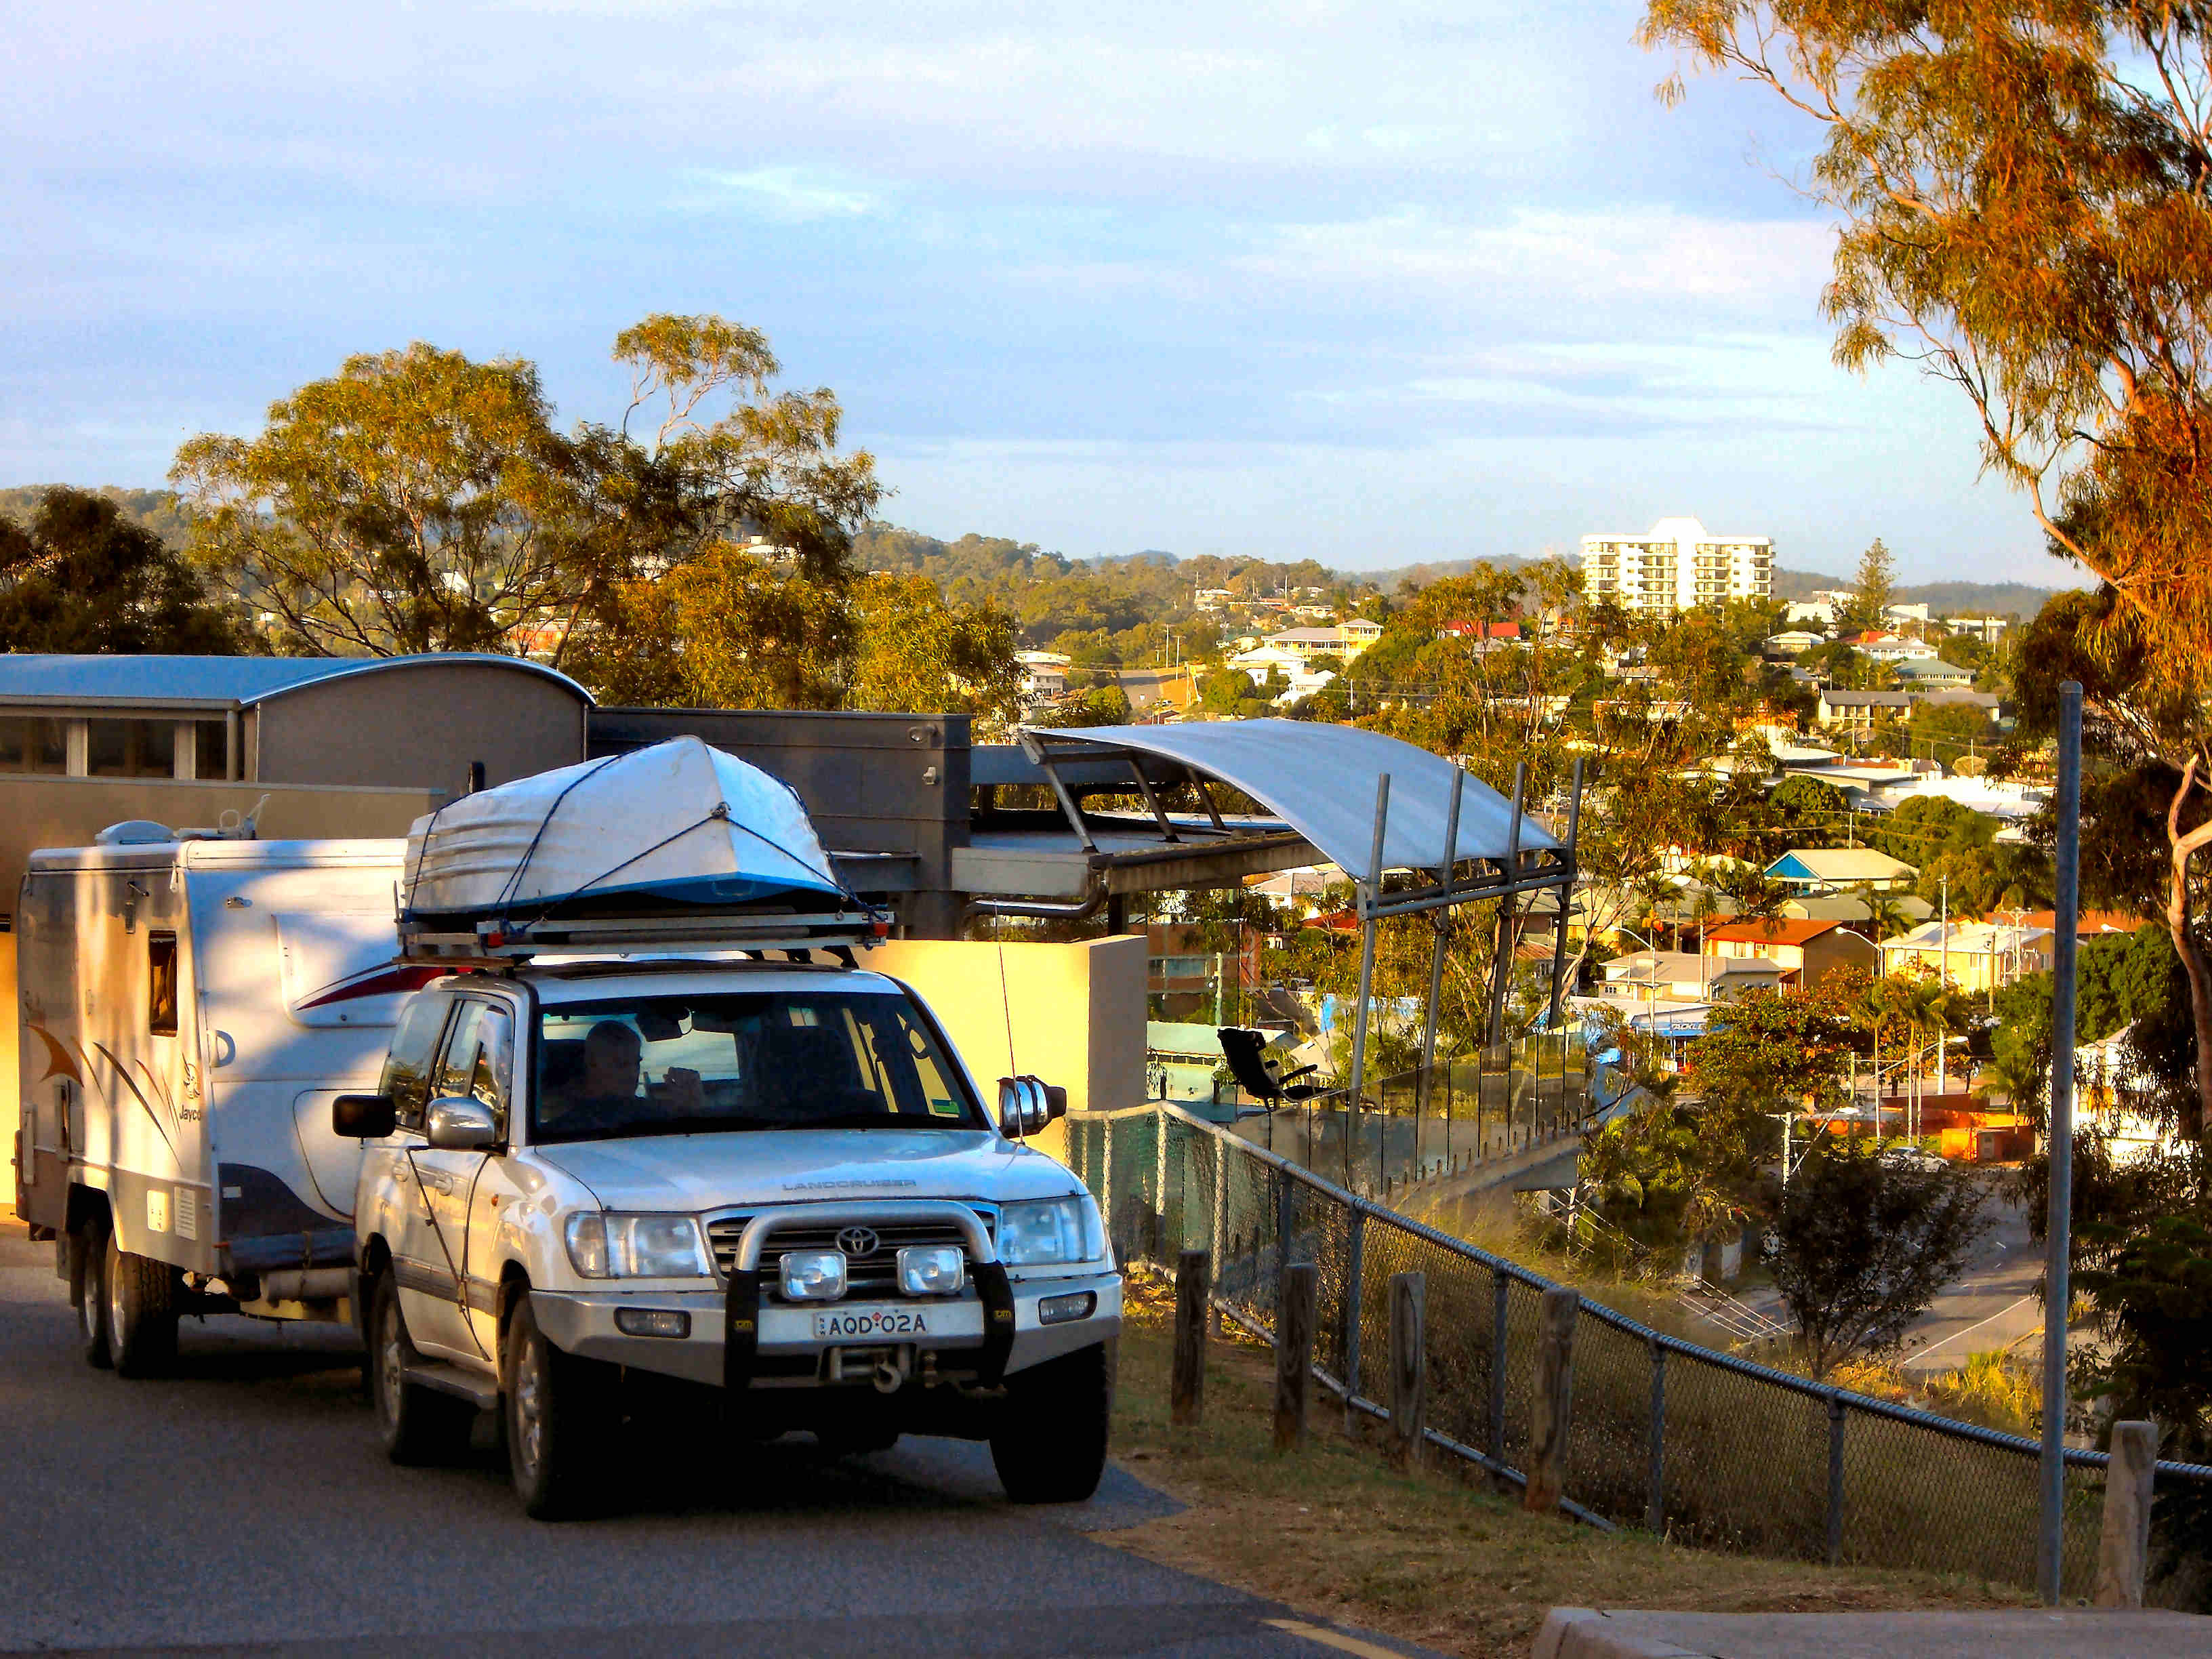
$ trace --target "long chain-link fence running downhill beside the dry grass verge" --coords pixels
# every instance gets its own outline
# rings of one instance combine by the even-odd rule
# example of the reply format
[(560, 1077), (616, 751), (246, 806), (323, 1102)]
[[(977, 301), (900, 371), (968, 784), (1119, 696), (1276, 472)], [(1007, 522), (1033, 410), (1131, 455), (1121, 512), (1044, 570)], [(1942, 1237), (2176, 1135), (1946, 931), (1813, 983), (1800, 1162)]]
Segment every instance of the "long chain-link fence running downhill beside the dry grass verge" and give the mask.
[[(1363, 1199), (1175, 1106), (1068, 1119), (1075, 1172), (1124, 1261), (1212, 1254), (1225, 1318), (1270, 1338), (1285, 1263), (1321, 1272), (1316, 1376), (1387, 1416), (1391, 1274), (1427, 1274), (1431, 1444), (1522, 1482), (1537, 1307), (1551, 1281)], [(2039, 1449), (1809, 1383), (1595, 1303), (1575, 1325), (1566, 1509), (1712, 1548), (2035, 1584)], [(2106, 1455), (2066, 1453), (2066, 1595), (2088, 1595)], [(2212, 1469), (2159, 1491), (2212, 1498)], [(2157, 1546), (2157, 1540), (2154, 1540)], [(2152, 1584), (2157, 1597), (2159, 1584)]]

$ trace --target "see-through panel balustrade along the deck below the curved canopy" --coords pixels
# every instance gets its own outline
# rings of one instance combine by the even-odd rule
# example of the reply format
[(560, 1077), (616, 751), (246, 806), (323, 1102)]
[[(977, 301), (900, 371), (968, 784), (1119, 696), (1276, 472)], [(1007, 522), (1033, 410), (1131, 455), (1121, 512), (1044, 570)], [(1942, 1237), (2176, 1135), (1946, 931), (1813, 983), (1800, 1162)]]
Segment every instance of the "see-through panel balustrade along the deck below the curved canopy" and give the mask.
[(1531, 1033), (1433, 1066), (1369, 1077), (1358, 1106), (1332, 1088), (1234, 1133), (1347, 1192), (1387, 1199), (1582, 1133), (1593, 1106), (1579, 1037)]

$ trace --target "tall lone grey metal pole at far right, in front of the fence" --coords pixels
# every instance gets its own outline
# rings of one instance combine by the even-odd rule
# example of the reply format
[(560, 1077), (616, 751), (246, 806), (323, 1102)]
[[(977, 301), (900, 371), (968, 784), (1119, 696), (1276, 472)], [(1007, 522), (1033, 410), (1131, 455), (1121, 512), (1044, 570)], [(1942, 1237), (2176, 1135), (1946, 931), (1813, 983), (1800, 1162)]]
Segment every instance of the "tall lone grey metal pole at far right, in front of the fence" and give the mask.
[(2073, 1004), (2075, 942), (2081, 925), (2081, 686), (2059, 686), (2059, 845), (2057, 916), (2051, 940), (2051, 1208), (2044, 1219), (2044, 1504), (2035, 1546), (2035, 1588), (2059, 1604), (2066, 1515), (2066, 1307), (2073, 1252)]

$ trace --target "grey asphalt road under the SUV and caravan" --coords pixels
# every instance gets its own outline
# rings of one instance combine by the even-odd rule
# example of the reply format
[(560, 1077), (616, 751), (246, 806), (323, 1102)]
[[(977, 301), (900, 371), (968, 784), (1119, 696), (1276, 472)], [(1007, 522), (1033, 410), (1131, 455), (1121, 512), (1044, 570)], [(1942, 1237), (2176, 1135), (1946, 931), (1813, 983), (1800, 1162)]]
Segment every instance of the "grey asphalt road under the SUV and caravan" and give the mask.
[(177, 1378), (124, 1383), (77, 1358), (51, 1263), (0, 1234), (0, 1650), (1409, 1652), (1093, 1542), (1172, 1511), (1121, 1471), (1018, 1509), (951, 1440), (827, 1460), (661, 1425), (619, 1513), (542, 1526), (482, 1436), (387, 1464), (347, 1334), (186, 1323)]

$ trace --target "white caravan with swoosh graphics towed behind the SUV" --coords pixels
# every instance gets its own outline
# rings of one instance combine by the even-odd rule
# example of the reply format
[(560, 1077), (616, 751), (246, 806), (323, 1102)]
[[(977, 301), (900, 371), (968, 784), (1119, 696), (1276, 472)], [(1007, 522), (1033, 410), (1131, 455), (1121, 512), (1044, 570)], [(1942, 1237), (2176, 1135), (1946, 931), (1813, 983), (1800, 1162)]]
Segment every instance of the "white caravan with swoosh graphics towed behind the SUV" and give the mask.
[(184, 1312), (349, 1318), (361, 1144), (330, 1104), (434, 973), (394, 962), (407, 843), (102, 843), (31, 854), (15, 909), (18, 1212), (86, 1358), (157, 1371)]

